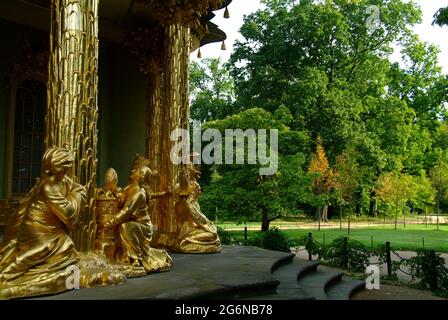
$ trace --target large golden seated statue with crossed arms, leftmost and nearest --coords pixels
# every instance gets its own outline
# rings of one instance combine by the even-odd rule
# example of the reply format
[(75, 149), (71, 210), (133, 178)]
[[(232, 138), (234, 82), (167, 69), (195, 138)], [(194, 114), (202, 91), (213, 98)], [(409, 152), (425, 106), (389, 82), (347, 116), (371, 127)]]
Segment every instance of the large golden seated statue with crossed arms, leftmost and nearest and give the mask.
[(54, 294), (71, 289), (67, 279), (74, 268), (81, 287), (118, 284), (123, 274), (107, 268), (104, 260), (78, 254), (68, 230), (78, 223), (86, 189), (71, 179), (74, 153), (48, 149), (37, 181), (5, 231), (0, 245), (0, 298)]

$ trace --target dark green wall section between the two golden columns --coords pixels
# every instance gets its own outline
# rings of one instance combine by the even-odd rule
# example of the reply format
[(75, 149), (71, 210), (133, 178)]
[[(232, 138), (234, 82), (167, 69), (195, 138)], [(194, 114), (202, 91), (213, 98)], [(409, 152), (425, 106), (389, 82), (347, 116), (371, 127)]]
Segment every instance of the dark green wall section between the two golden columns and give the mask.
[(128, 183), (136, 153), (145, 153), (146, 87), (134, 57), (118, 44), (102, 43), (99, 59), (98, 182), (114, 168)]

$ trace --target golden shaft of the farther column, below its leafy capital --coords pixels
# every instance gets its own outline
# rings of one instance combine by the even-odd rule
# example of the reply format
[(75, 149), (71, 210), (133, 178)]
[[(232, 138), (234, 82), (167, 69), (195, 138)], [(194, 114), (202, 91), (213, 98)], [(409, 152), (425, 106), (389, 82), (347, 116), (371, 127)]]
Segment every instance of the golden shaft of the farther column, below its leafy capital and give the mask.
[[(153, 105), (156, 115), (149, 122), (148, 156), (160, 173), (160, 191), (168, 190), (180, 182), (181, 168), (185, 164), (173, 164), (170, 151), (177, 143), (171, 141), (170, 135), (176, 129), (188, 132), (189, 103), (188, 77), (190, 55), (190, 28), (181, 23), (172, 23), (164, 28), (164, 48), (162, 55), (163, 82), (161, 103)], [(157, 95), (157, 91), (154, 92)], [(160, 122), (157, 119), (159, 115)], [(156, 121), (158, 123), (156, 123)], [(160, 128), (158, 128), (160, 126)], [(154, 158), (154, 155), (160, 155)], [(176, 246), (179, 221), (175, 212), (177, 195), (170, 195), (157, 200), (157, 209), (153, 210), (152, 219), (156, 226), (153, 245), (168, 249)]]

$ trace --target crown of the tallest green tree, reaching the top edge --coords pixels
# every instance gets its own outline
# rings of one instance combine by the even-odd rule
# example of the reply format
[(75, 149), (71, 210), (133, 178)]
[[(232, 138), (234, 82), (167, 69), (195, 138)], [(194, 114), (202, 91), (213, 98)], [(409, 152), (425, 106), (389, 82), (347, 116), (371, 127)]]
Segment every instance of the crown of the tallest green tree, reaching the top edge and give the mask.
[(239, 104), (271, 112), (284, 104), (313, 137), (347, 139), (344, 120), (364, 97), (384, 92), (384, 57), (421, 18), (413, 4), (377, 2), (382, 24), (369, 34), (360, 12), (371, 1), (264, 1), (266, 9), (246, 17), (231, 57)]

